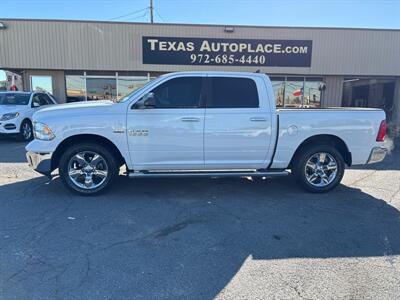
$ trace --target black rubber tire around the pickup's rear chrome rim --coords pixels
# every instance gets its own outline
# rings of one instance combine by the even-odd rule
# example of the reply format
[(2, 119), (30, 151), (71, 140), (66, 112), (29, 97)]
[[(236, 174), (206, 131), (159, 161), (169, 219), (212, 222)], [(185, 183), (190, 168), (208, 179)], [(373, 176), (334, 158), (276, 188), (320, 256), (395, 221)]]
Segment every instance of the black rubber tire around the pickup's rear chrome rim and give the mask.
[[(319, 153), (326, 153), (327, 157), (329, 156), (334, 159), (336, 163), (336, 174), (333, 177), (332, 176), (332, 181), (329, 182), (329, 184), (326, 184), (326, 182), (323, 182), (322, 177), (320, 175), (315, 175), (319, 176), (319, 183), (318, 183), (318, 177), (314, 177), (316, 183), (311, 183), (309, 179), (307, 179), (307, 175), (309, 177), (312, 177), (312, 170), (309, 170), (309, 167), (306, 167), (306, 164), (309, 162), (309, 160), (314, 159), (314, 157), (318, 157)], [(330, 158), (329, 158), (330, 159)], [(312, 163), (312, 162), (311, 162)], [(320, 167), (321, 168), (321, 167)], [(323, 168), (323, 167), (322, 167)], [(336, 148), (332, 145), (329, 144), (321, 144), (321, 145), (309, 145), (304, 147), (299, 151), (299, 153), (294, 157), (293, 162), (292, 162), (292, 173), (296, 178), (296, 181), (298, 184), (306, 189), (309, 192), (312, 193), (324, 193), (332, 190), (335, 188), (339, 183), (342, 181), (343, 175), (345, 171), (345, 162), (342, 157), (342, 155), (339, 153), (339, 151), (336, 150)], [(309, 173), (311, 172), (311, 175)], [(316, 172), (321, 172), (321, 170), (318, 170)], [(325, 171), (322, 171), (325, 172)], [(330, 171), (329, 171), (330, 172)], [(316, 173), (314, 173), (316, 174)], [(332, 173), (331, 173), (332, 174)], [(324, 174), (325, 176), (325, 174)], [(327, 177), (325, 177), (327, 178)], [(327, 179), (326, 179), (327, 180)], [(329, 181), (329, 180), (327, 180)], [(316, 186), (315, 184), (326, 184), (325, 186)]]

